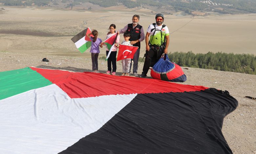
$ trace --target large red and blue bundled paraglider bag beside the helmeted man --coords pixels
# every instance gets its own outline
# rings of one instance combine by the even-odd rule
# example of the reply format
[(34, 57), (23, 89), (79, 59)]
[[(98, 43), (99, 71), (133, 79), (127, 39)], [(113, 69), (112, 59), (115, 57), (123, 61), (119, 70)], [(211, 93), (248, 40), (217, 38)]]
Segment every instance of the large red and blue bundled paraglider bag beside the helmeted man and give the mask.
[(167, 54), (162, 55), (159, 61), (152, 67), (150, 74), (153, 79), (163, 81), (184, 82), (187, 80), (187, 76), (182, 68), (172, 63)]

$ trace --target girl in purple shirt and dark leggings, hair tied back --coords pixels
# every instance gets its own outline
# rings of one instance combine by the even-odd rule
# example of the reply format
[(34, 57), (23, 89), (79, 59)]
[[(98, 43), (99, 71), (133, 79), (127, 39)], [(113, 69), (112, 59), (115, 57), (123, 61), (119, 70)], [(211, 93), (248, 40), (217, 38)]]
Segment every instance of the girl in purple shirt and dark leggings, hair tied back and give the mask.
[[(90, 35), (93, 35), (90, 36)], [(98, 38), (98, 31), (93, 30), (91, 33), (86, 35), (87, 37), (90, 38), (92, 41), (92, 46), (91, 46), (91, 56), (92, 56), (92, 63), (93, 63), (93, 72), (99, 73), (98, 71), (98, 56), (99, 56), (99, 47), (102, 48), (102, 40)]]

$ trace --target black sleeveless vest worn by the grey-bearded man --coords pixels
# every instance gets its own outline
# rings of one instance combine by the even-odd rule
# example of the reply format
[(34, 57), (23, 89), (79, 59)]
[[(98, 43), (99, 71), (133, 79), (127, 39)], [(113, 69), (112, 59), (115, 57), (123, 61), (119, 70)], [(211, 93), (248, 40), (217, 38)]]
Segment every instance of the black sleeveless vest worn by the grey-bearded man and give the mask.
[[(141, 28), (142, 28), (142, 26), (140, 26), (139, 24), (135, 28), (133, 28), (133, 24), (128, 24), (128, 28), (126, 31), (130, 32), (130, 34), (131, 34), (129, 41), (139, 40)], [(133, 46), (140, 48), (140, 42), (133, 44)]]

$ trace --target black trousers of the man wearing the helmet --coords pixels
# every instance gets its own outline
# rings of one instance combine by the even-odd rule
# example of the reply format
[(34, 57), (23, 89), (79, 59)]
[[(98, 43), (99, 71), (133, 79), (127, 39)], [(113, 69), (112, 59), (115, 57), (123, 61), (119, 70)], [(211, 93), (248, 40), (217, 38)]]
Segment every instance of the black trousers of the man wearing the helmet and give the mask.
[(149, 51), (146, 51), (145, 54), (145, 62), (144, 62), (144, 66), (143, 66), (143, 72), (145, 74), (148, 73), (149, 67), (153, 67), (157, 61), (161, 58), (162, 54), (163, 54), (163, 50), (164, 48), (149, 48)]

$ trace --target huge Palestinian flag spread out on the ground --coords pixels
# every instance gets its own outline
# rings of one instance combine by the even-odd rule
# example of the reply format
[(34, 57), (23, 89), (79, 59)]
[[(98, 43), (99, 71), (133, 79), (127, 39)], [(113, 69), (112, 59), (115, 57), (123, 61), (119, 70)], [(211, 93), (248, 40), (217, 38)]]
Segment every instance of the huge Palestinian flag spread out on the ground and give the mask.
[(232, 153), (227, 91), (35, 67), (0, 72), (0, 83), (0, 153)]

